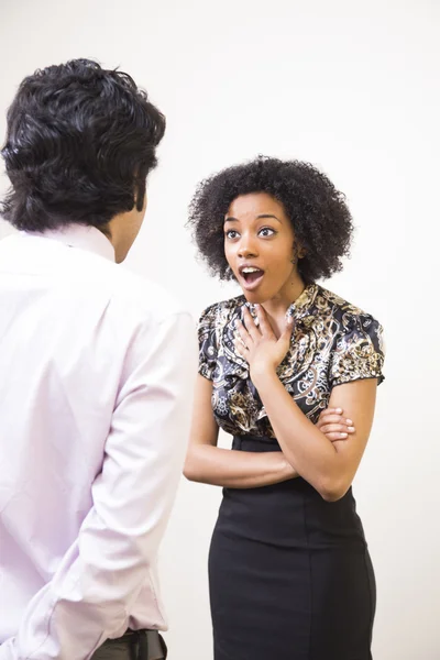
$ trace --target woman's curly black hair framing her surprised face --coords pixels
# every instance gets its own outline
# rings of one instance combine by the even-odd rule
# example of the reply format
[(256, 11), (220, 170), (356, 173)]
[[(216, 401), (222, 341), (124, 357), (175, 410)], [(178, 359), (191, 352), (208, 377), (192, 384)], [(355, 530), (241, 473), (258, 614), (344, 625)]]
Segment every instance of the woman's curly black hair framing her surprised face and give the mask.
[(190, 202), (188, 224), (212, 275), (234, 277), (224, 256), (224, 216), (237, 197), (250, 193), (266, 193), (284, 206), (306, 253), (298, 260), (305, 283), (342, 270), (353, 233), (344, 195), (309, 163), (258, 156), (202, 180)]

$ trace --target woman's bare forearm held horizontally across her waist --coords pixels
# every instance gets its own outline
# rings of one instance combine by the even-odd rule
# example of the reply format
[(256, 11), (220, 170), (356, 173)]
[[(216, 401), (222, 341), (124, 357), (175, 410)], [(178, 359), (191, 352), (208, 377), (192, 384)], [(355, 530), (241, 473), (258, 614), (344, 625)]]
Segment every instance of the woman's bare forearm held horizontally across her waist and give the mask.
[(184, 474), (189, 481), (227, 488), (256, 488), (298, 476), (280, 451), (254, 453), (208, 444), (190, 447)]

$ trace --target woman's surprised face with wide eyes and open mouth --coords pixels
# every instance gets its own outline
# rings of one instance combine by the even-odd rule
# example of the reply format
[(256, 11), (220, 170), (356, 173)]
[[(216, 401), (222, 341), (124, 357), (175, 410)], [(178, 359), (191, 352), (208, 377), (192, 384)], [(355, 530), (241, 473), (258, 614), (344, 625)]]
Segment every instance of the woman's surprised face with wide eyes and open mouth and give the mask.
[(224, 217), (224, 254), (250, 302), (292, 301), (300, 276), (283, 205), (266, 193), (237, 197)]

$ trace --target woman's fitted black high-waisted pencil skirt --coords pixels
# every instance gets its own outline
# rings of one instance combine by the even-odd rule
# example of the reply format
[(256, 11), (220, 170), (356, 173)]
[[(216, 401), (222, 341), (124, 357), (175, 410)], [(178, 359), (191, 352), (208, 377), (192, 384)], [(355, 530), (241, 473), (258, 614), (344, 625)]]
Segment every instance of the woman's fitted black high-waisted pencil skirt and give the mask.
[[(279, 450), (270, 438), (233, 449)], [(226, 488), (209, 553), (215, 660), (371, 660), (375, 581), (350, 490)]]

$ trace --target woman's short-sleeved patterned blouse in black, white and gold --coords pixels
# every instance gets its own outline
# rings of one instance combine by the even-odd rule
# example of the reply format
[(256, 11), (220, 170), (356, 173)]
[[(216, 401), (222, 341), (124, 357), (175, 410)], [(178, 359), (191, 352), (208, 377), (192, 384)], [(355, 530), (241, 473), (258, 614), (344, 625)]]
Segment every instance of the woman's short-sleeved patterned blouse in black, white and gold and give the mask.
[[(235, 320), (244, 296), (206, 309), (198, 327), (199, 373), (212, 381), (212, 409), (219, 427), (233, 436), (274, 437), (271, 422), (249, 375), (249, 365), (234, 348)], [(360, 378), (382, 383), (382, 326), (369, 314), (317, 284), (305, 288), (287, 314), (295, 319), (290, 348), (278, 376), (307, 417), (316, 422), (336, 385)]]

